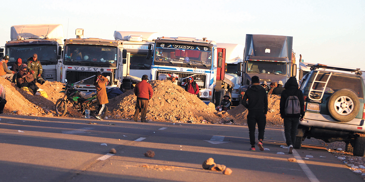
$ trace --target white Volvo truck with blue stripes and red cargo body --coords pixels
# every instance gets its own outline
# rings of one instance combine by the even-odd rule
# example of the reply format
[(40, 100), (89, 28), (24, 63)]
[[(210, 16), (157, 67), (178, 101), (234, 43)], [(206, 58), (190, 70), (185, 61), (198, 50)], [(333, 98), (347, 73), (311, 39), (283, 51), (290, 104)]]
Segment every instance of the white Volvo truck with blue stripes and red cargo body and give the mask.
[[(152, 47), (153, 46), (153, 47)], [(224, 78), (225, 48), (215, 41), (194, 37), (160, 37), (149, 46), (153, 62), (150, 79), (170, 79), (177, 75), (178, 86), (185, 87), (193, 77), (199, 86), (201, 100), (219, 104), (224, 95), (231, 96), (234, 84)]]

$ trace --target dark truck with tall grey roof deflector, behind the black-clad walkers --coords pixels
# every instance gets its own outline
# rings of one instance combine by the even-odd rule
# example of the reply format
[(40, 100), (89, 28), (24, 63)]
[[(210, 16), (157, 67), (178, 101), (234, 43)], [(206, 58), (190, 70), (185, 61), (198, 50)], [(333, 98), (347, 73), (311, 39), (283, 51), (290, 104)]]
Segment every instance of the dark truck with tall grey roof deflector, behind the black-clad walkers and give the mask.
[(251, 84), (252, 76), (260, 83), (283, 81), (296, 76), (295, 53), (292, 51), (293, 37), (278, 35), (246, 34), (244, 60), (238, 63), (237, 75), (241, 79), (241, 97)]

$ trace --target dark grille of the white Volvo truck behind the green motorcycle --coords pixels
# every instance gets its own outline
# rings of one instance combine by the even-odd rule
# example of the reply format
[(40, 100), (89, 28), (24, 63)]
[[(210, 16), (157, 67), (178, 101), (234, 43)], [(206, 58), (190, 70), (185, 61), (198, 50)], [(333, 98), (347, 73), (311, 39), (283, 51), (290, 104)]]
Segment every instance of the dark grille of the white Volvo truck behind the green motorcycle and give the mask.
[[(96, 73), (95, 71), (71, 71), (71, 70), (68, 70), (68, 71), (66, 71), (65, 79), (67, 79), (68, 83), (75, 83), (75, 82), (81, 81), (85, 78), (89, 78), (89, 77), (93, 76), (92, 78), (84, 80), (84, 83), (82, 83), (82, 84), (85, 84), (85, 85), (92, 85), (94, 83), (95, 73)], [(103, 74), (104, 76), (110, 76), (110, 80), (113, 80), (112, 72), (104, 72), (104, 73), (101, 73), (101, 74)], [(109, 82), (108, 86), (111, 86), (112, 83), (113, 82)]]

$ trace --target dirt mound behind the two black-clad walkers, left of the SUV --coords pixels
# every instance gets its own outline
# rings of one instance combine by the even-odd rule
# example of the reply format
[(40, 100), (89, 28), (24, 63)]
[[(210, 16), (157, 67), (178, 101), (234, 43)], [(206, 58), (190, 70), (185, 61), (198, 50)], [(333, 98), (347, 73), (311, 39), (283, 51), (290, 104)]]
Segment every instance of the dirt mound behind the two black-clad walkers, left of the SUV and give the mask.
[[(242, 104), (228, 111), (234, 121), (239, 124), (247, 124), (248, 110)], [(280, 117), (280, 95), (268, 95), (268, 114), (266, 126), (283, 126), (284, 120)]]

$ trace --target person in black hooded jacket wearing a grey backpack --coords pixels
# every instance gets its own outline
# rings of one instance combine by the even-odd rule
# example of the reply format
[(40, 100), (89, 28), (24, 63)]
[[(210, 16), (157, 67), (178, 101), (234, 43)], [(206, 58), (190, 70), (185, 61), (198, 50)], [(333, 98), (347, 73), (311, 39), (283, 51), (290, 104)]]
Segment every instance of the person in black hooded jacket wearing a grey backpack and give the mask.
[(304, 117), (304, 97), (303, 92), (298, 89), (298, 83), (294, 76), (288, 79), (284, 88), (280, 98), (280, 115), (284, 119), (284, 134), (289, 147), (288, 153), (292, 154), (299, 120), (302, 121)]

